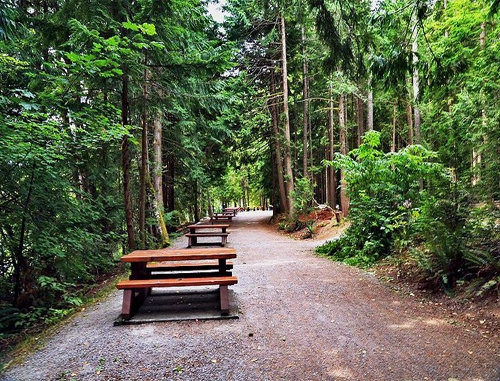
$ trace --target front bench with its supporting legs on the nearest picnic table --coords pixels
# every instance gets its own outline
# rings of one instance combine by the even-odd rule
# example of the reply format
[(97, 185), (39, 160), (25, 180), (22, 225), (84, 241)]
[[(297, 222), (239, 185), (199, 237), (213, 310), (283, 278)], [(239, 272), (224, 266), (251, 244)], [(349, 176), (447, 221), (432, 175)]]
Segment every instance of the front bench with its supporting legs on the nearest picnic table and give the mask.
[(132, 305), (137, 298), (135, 293), (149, 293), (154, 287), (195, 287), (219, 286), (220, 310), (222, 315), (229, 314), (228, 286), (238, 283), (235, 276), (177, 278), (177, 279), (126, 279), (118, 282), (116, 287), (123, 290), (122, 318), (130, 319), (138, 306)]

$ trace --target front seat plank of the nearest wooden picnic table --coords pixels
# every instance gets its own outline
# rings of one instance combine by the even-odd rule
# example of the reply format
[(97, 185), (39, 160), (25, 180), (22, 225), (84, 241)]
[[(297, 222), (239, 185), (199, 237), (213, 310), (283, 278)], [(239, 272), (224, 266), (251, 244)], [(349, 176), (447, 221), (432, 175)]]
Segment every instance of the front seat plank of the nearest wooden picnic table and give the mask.
[(152, 287), (218, 286), (236, 283), (238, 283), (238, 278), (235, 276), (178, 279), (128, 279), (119, 281), (116, 288), (119, 290), (127, 290)]

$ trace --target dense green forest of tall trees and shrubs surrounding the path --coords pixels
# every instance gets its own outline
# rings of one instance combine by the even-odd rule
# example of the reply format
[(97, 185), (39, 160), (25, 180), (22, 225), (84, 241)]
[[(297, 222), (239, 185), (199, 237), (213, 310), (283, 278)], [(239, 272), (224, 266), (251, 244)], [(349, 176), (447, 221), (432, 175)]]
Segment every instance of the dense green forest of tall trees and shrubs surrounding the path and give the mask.
[(4, 0), (0, 328), (223, 205), (351, 226), (320, 249), (500, 281), (498, 2)]

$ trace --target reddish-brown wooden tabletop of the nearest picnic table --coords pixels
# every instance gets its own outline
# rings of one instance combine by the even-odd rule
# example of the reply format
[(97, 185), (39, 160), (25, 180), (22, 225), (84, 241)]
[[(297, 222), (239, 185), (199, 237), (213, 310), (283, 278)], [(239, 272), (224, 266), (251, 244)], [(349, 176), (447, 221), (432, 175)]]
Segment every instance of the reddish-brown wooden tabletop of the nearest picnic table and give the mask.
[(121, 257), (121, 262), (192, 261), (236, 258), (232, 247), (197, 249), (135, 250)]

